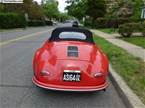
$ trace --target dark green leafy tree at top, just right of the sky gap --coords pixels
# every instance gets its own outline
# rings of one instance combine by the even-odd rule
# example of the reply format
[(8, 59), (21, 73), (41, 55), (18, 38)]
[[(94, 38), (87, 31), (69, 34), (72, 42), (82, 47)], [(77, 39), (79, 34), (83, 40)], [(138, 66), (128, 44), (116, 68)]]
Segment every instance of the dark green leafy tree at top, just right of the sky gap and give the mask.
[(92, 26), (98, 17), (106, 14), (106, 0), (67, 0), (68, 14), (78, 19), (89, 16), (92, 19)]

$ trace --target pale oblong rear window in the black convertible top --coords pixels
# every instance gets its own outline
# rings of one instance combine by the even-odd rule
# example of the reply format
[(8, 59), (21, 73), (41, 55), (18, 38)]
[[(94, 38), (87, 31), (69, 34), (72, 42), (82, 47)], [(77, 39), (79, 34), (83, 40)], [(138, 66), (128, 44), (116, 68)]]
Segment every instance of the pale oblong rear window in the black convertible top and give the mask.
[(85, 40), (86, 35), (80, 32), (61, 32), (59, 34), (60, 39), (77, 39), (77, 40)]

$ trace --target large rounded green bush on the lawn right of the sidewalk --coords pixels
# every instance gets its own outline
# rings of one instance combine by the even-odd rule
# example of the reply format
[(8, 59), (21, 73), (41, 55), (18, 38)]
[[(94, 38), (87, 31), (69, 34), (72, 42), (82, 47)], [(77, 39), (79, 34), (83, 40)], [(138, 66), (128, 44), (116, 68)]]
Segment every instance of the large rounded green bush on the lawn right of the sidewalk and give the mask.
[(119, 34), (123, 37), (130, 37), (134, 32), (142, 32), (143, 27), (139, 23), (126, 23), (119, 26)]

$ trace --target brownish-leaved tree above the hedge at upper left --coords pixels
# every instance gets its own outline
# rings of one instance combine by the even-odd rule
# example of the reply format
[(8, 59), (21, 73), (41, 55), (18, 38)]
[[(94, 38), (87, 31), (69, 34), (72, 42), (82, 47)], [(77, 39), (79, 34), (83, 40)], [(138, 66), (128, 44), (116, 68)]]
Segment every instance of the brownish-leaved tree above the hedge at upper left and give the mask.
[[(3, 6), (3, 7), (2, 7)], [(14, 12), (14, 13), (20, 13), (25, 14), (27, 13), (30, 20), (42, 20), (43, 19), (43, 11), (40, 5), (38, 5), (37, 2), (34, 2), (33, 0), (24, 0), (23, 4), (2, 4), (2, 12)]]

